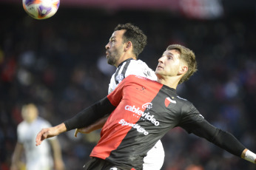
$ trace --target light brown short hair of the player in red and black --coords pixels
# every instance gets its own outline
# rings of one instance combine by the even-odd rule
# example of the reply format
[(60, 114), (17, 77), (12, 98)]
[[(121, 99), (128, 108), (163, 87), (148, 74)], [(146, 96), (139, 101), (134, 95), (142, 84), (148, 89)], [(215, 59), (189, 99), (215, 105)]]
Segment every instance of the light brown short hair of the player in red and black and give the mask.
[(195, 60), (195, 53), (192, 50), (189, 50), (188, 48), (183, 47), (179, 44), (169, 45), (166, 50), (178, 50), (180, 52), (181, 60), (185, 61), (186, 64), (188, 64), (188, 70), (185, 75), (183, 75), (178, 84), (183, 83), (183, 81), (189, 80), (191, 75), (193, 75), (198, 70), (198, 64)]

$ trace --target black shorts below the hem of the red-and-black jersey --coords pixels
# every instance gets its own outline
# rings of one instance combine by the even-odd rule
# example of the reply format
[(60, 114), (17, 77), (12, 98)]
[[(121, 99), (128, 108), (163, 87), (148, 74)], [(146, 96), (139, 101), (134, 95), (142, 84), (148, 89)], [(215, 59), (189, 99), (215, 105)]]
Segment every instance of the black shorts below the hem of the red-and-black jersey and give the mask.
[(135, 170), (135, 169), (130, 169), (127, 167), (120, 167), (120, 166), (115, 166), (114, 164), (108, 162), (107, 160), (102, 160), (97, 157), (92, 157), (91, 160), (89, 160), (85, 165), (84, 165), (85, 170)]

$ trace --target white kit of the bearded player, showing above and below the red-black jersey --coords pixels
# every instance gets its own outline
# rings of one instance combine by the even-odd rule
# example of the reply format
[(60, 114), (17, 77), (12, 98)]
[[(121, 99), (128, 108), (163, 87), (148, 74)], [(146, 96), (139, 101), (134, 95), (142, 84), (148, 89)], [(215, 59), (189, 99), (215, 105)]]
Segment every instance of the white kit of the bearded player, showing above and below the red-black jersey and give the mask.
[[(158, 77), (155, 72), (150, 69), (144, 61), (134, 60), (129, 58), (119, 64), (115, 73), (112, 75), (109, 85), (108, 93), (112, 92), (118, 84), (124, 80), (128, 75), (140, 75), (142, 77), (149, 78), (152, 81), (156, 81)], [(164, 147), (161, 140), (155, 143), (155, 146), (147, 152), (144, 157), (144, 170), (159, 170), (164, 163)]]

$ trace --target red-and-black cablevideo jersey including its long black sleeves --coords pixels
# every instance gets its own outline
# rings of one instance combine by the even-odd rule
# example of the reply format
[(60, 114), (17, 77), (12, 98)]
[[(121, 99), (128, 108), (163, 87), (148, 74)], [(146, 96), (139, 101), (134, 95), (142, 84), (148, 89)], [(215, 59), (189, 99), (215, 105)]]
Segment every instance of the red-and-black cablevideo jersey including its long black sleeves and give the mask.
[(64, 124), (69, 131), (89, 126), (108, 114), (101, 139), (90, 156), (110, 161), (124, 170), (142, 169), (149, 149), (176, 126), (238, 157), (246, 149), (232, 134), (206, 121), (191, 102), (176, 94), (175, 89), (138, 75), (129, 75), (107, 98)]

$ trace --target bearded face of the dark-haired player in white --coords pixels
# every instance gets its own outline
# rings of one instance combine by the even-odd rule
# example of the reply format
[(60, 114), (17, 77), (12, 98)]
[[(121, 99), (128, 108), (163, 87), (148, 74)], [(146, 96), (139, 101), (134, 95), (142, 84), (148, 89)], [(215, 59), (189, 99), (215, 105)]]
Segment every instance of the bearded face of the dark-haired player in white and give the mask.
[(117, 30), (112, 33), (110, 42), (106, 45), (107, 63), (117, 67), (117, 63), (124, 52), (123, 35), (125, 30)]

